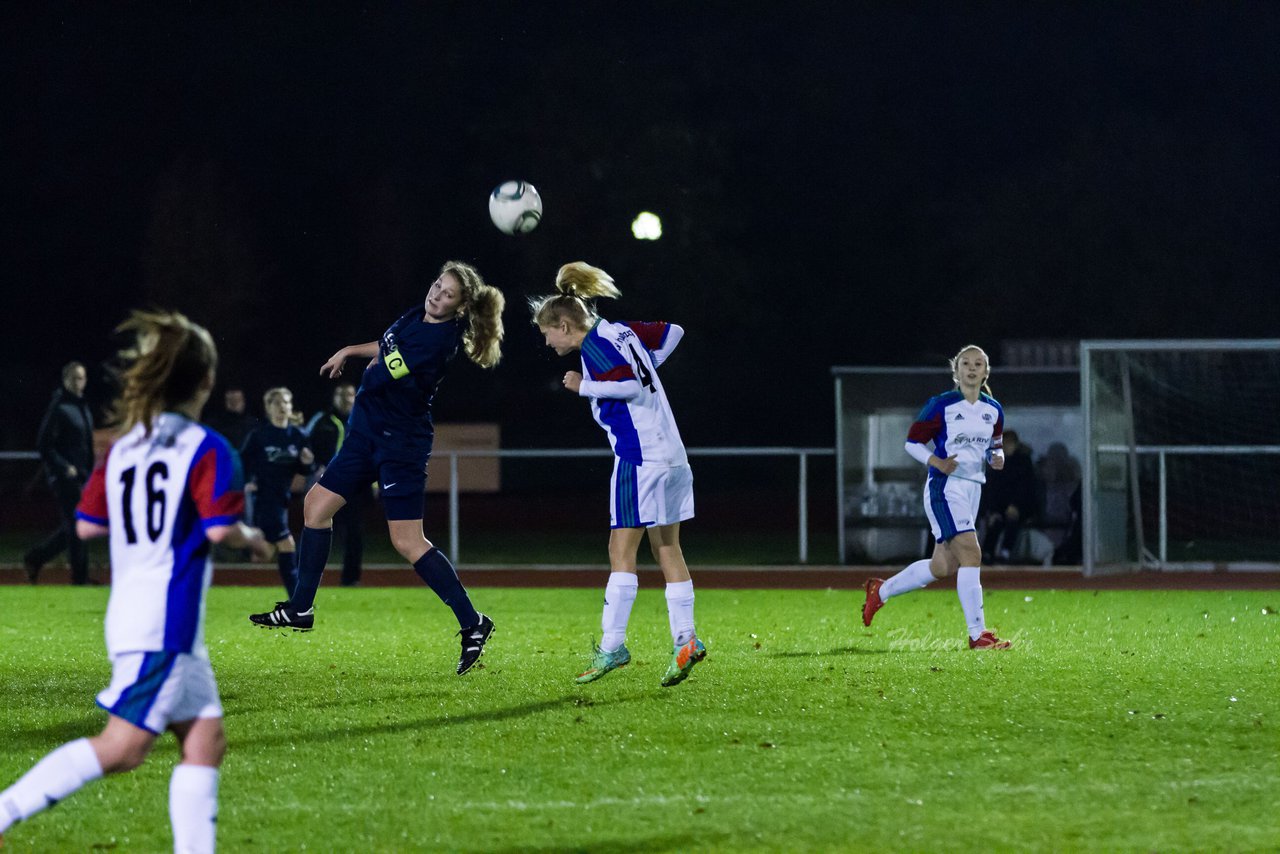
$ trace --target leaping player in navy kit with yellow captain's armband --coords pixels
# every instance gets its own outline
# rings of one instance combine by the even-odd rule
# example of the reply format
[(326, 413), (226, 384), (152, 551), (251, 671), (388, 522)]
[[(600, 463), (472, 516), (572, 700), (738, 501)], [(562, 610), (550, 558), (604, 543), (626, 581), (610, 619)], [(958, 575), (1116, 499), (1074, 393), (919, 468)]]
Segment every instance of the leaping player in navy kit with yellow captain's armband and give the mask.
[(502, 359), (502, 292), (468, 264), (449, 261), (415, 306), (383, 337), (343, 347), (320, 366), (330, 379), (348, 359), (369, 365), (356, 392), (342, 448), (303, 503), (298, 585), (287, 602), (255, 613), (256, 625), (306, 631), (315, 625), (315, 595), (333, 543), (333, 517), (349, 495), (378, 480), (392, 544), (413, 571), (453, 609), (462, 636), (457, 673), (484, 652), (493, 621), (471, 604), (449, 558), (422, 533), (422, 495), (431, 456), (431, 398), (461, 347), (481, 367)]

